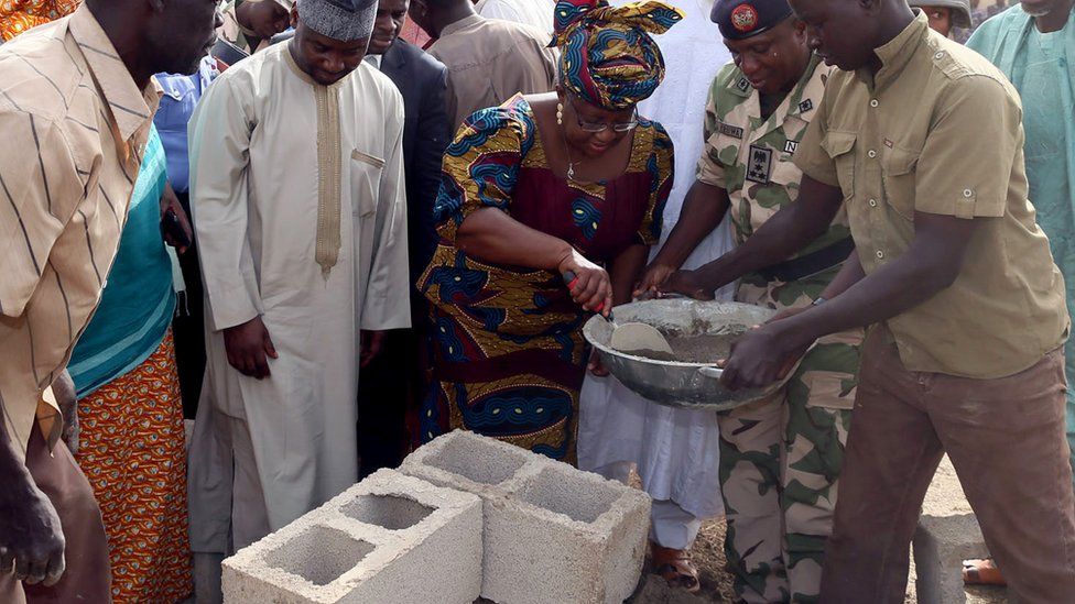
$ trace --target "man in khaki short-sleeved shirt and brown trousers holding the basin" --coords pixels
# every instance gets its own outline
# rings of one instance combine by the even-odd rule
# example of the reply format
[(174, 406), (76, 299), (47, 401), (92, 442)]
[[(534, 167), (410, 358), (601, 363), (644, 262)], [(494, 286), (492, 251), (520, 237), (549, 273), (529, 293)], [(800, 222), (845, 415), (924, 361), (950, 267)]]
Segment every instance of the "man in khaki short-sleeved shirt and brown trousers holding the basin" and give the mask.
[(829, 301), (740, 339), (723, 380), (770, 383), (817, 338), (873, 326), (821, 600), (903, 601), (919, 508), (947, 452), (1019, 600), (1069, 601), (1069, 325), (1027, 198), (1019, 97), (903, 0), (791, 3), (840, 70), (795, 155), (799, 201), (758, 234), (806, 242), (843, 206), (857, 254)]

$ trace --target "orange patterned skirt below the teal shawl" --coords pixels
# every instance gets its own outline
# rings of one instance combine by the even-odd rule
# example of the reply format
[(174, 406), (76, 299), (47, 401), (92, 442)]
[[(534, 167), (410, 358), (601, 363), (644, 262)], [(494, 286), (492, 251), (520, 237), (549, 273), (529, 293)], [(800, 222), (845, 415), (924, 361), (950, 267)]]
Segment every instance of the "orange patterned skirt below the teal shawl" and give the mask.
[(172, 331), (141, 365), (80, 399), (78, 416), (75, 457), (105, 519), (113, 602), (185, 600), (193, 582)]

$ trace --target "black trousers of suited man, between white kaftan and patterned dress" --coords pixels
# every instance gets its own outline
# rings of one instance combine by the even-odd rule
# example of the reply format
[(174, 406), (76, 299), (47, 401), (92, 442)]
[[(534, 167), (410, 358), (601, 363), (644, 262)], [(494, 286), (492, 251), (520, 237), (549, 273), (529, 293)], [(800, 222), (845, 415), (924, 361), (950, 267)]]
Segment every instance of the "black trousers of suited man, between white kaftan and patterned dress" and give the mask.
[(397, 468), (409, 449), (406, 415), (417, 407), (428, 383), (426, 330), (395, 329), (381, 353), (359, 371), (359, 480), (381, 468)]

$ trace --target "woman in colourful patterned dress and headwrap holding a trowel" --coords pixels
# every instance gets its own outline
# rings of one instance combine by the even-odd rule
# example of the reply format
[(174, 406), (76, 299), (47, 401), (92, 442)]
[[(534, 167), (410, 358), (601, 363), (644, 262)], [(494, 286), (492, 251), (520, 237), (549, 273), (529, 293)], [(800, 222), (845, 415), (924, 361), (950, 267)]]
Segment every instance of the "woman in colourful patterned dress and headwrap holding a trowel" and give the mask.
[(561, 0), (555, 17), (555, 94), (476, 112), (444, 158), (419, 436), (462, 428), (574, 462), (582, 326), (630, 301), (672, 188), (672, 141), (634, 106), (664, 74), (649, 34), (682, 13)]

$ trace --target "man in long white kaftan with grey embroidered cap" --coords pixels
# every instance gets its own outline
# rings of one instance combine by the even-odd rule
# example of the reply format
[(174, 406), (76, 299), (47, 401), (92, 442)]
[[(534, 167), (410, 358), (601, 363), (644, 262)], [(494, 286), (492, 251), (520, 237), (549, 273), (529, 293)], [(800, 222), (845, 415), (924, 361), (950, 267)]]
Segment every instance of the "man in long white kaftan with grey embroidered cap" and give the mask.
[[(363, 19), (377, 7), (352, 4)], [(361, 63), (368, 29), (349, 51), (337, 21), (312, 30), (306, 11), (325, 6), (339, 18), (337, 2), (304, 0), (294, 40), (225, 72), (189, 130), (208, 356), (191, 444), (196, 553), (242, 548), (356, 482), (359, 332), (410, 326), (402, 98)], [(249, 329), (264, 337), (260, 363), (234, 341)]]

